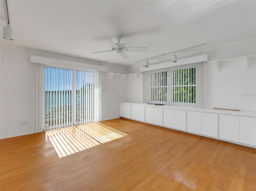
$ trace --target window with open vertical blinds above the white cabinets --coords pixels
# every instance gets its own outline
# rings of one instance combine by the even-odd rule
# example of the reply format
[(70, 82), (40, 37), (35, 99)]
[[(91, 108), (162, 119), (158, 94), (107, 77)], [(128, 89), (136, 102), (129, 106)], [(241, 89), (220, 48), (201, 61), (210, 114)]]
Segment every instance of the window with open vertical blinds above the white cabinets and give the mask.
[(203, 66), (202, 62), (144, 72), (144, 102), (202, 106)]

